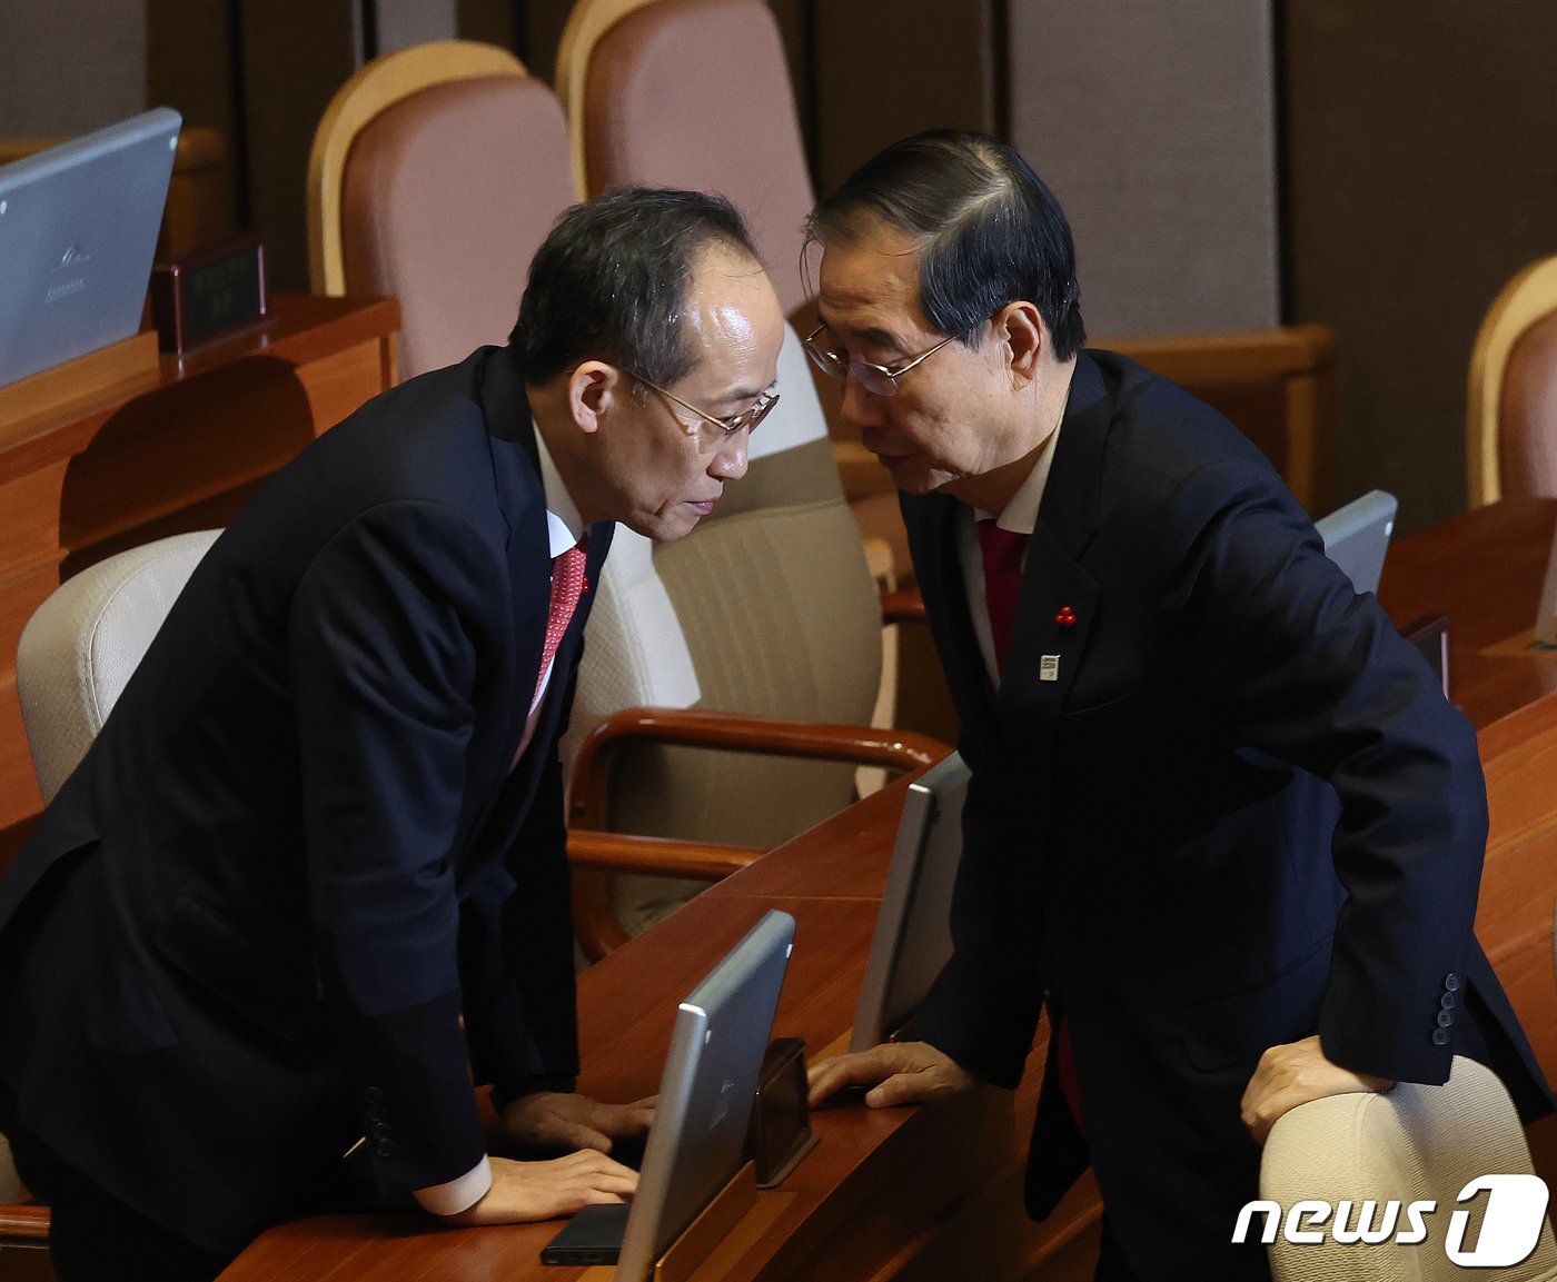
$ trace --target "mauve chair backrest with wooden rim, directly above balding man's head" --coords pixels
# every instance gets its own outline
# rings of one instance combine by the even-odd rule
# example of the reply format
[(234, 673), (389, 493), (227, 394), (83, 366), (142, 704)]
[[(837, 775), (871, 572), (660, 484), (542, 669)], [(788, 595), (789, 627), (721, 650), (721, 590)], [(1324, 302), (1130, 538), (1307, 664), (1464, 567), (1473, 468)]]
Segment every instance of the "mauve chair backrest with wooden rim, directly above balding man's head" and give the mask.
[(746, 218), (785, 311), (805, 303), (800, 222), (814, 199), (763, 0), (578, 0), (557, 95), (581, 199), (621, 184), (718, 191)]

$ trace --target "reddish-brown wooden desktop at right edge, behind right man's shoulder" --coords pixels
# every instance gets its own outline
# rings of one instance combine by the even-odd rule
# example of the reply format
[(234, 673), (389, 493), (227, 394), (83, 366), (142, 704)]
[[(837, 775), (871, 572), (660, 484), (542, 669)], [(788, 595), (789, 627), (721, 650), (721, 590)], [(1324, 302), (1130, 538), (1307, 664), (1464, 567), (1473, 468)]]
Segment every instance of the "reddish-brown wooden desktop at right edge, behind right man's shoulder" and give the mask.
[(1557, 653), (1527, 647), (1557, 499), (1478, 507), (1389, 549), (1378, 599), (1400, 627), (1450, 619), (1450, 697), (1481, 730), (1557, 689)]

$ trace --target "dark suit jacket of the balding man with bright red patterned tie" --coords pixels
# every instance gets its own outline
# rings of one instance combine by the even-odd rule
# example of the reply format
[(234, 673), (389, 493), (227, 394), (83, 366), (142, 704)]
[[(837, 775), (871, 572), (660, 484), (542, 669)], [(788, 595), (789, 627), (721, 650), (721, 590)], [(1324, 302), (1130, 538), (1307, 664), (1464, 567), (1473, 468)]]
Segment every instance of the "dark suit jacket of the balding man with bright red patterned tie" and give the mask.
[(391, 1195), (469, 1170), (470, 1064), (576, 1072), (556, 739), (589, 593), (509, 772), (550, 569), (508, 350), (378, 397), (268, 484), (0, 882), (23, 1126), (235, 1251), (333, 1200), (358, 1137)]

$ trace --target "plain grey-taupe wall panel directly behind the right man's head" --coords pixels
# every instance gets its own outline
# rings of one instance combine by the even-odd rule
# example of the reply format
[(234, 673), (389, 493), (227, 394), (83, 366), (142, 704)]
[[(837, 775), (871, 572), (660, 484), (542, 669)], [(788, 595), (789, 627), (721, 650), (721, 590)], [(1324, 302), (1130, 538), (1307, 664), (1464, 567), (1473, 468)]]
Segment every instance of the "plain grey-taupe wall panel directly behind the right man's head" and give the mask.
[(1095, 336), (1274, 325), (1269, 0), (1020, 0), (1010, 140), (1076, 235)]

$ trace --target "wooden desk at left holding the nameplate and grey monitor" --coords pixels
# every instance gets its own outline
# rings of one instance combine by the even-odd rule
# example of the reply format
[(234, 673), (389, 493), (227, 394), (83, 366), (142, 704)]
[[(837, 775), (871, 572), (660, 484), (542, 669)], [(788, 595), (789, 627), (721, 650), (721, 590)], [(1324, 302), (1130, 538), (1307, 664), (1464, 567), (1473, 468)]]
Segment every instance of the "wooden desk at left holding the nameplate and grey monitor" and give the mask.
[(226, 524), (266, 476), (394, 384), (399, 325), (392, 299), (279, 296), (262, 330), (163, 356), (65, 411), (0, 422), (0, 828), (42, 807), (16, 699), (33, 611), (112, 552)]

